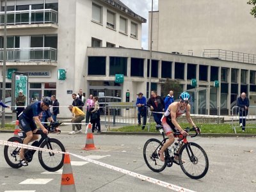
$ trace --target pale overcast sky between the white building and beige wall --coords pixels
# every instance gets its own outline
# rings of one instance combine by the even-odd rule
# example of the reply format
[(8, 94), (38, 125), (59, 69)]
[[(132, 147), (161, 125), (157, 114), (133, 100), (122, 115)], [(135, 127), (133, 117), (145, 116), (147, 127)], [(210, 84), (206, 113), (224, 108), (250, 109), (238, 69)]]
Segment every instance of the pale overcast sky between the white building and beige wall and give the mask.
[[(128, 6), (134, 13), (147, 19), (147, 23), (142, 24), (142, 44), (143, 49), (148, 49), (148, 12), (151, 12), (152, 0), (120, 0)], [(153, 10), (158, 10), (158, 0), (153, 1)]]

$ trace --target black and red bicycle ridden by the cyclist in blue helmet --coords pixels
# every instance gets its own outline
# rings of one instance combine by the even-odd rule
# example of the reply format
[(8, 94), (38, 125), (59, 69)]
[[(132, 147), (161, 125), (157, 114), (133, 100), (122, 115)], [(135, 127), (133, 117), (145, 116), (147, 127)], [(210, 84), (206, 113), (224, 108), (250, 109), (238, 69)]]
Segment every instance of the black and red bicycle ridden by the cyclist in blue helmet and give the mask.
[[(168, 138), (165, 138), (163, 126), (157, 125), (159, 132), (163, 136), (163, 141), (155, 138), (149, 139), (143, 148), (143, 157), (145, 162), (153, 172), (162, 172), (166, 166), (171, 167), (173, 163), (178, 164), (182, 171), (191, 179), (201, 179), (205, 176), (209, 168), (209, 161), (207, 154), (200, 145), (189, 142), (186, 137), (182, 136), (180, 132), (175, 132), (173, 135), (178, 139), (172, 146), (166, 148), (164, 151), (164, 161), (159, 159), (159, 150), (164, 145)], [(184, 131), (196, 131), (192, 138), (200, 133), (200, 128), (187, 127)], [(175, 156), (179, 157), (179, 161), (175, 161)]]

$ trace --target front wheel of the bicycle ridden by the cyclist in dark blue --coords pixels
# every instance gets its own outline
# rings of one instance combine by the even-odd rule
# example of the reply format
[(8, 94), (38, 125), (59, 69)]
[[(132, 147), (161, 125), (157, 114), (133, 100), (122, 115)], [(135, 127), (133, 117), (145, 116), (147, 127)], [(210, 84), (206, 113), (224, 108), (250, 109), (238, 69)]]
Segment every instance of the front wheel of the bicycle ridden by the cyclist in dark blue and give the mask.
[[(45, 140), (40, 147), (65, 152), (63, 144), (54, 138), (49, 138), (47, 141)], [(58, 152), (43, 152), (42, 150), (38, 152), (40, 164), (49, 172), (56, 172), (60, 170), (63, 166), (64, 156), (65, 154)]]

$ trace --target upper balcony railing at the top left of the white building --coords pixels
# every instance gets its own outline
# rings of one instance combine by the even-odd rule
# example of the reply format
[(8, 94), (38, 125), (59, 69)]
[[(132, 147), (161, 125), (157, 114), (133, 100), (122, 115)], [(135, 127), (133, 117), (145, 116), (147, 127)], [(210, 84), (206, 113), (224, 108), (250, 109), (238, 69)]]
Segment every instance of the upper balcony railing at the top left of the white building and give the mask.
[[(7, 12), (7, 25), (45, 24), (58, 22), (58, 12), (52, 9)], [(4, 12), (0, 12), (0, 25), (4, 25)]]

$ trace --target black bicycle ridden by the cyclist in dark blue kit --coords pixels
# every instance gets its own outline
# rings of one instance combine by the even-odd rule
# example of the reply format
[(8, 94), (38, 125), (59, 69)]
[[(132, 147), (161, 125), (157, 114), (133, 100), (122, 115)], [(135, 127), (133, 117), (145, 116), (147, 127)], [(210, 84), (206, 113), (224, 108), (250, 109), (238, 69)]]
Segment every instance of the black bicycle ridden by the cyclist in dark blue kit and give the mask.
[[(59, 125), (61, 125), (61, 122), (55, 122), (51, 125), (44, 124), (45, 128), (47, 128), (49, 132), (53, 132), (54, 130), (56, 130), (56, 127), (58, 127)], [(60, 133), (61, 131), (58, 130), (58, 132)], [(8, 141), (23, 143), (24, 138), (26, 138), (26, 133), (20, 131), (18, 134), (20, 138), (12, 137)], [(65, 147), (59, 140), (55, 138), (49, 138), (49, 136), (47, 134), (44, 134), (42, 130), (38, 129), (38, 131), (33, 134), (40, 134), (41, 138), (39, 141), (34, 141), (31, 144), (32, 146), (65, 152)], [(19, 152), (19, 147), (12, 147), (7, 145), (4, 146), (4, 159), (6, 160), (6, 163), (8, 163), (12, 168), (20, 168), (22, 166), (22, 164), (20, 163)], [(36, 150), (24, 150), (24, 156), (28, 162), (32, 161), (35, 152)], [(60, 170), (60, 168), (63, 166), (64, 154), (43, 152), (42, 150), (39, 150), (38, 159), (42, 167), (45, 168), (45, 170), (49, 172), (56, 172)]]

